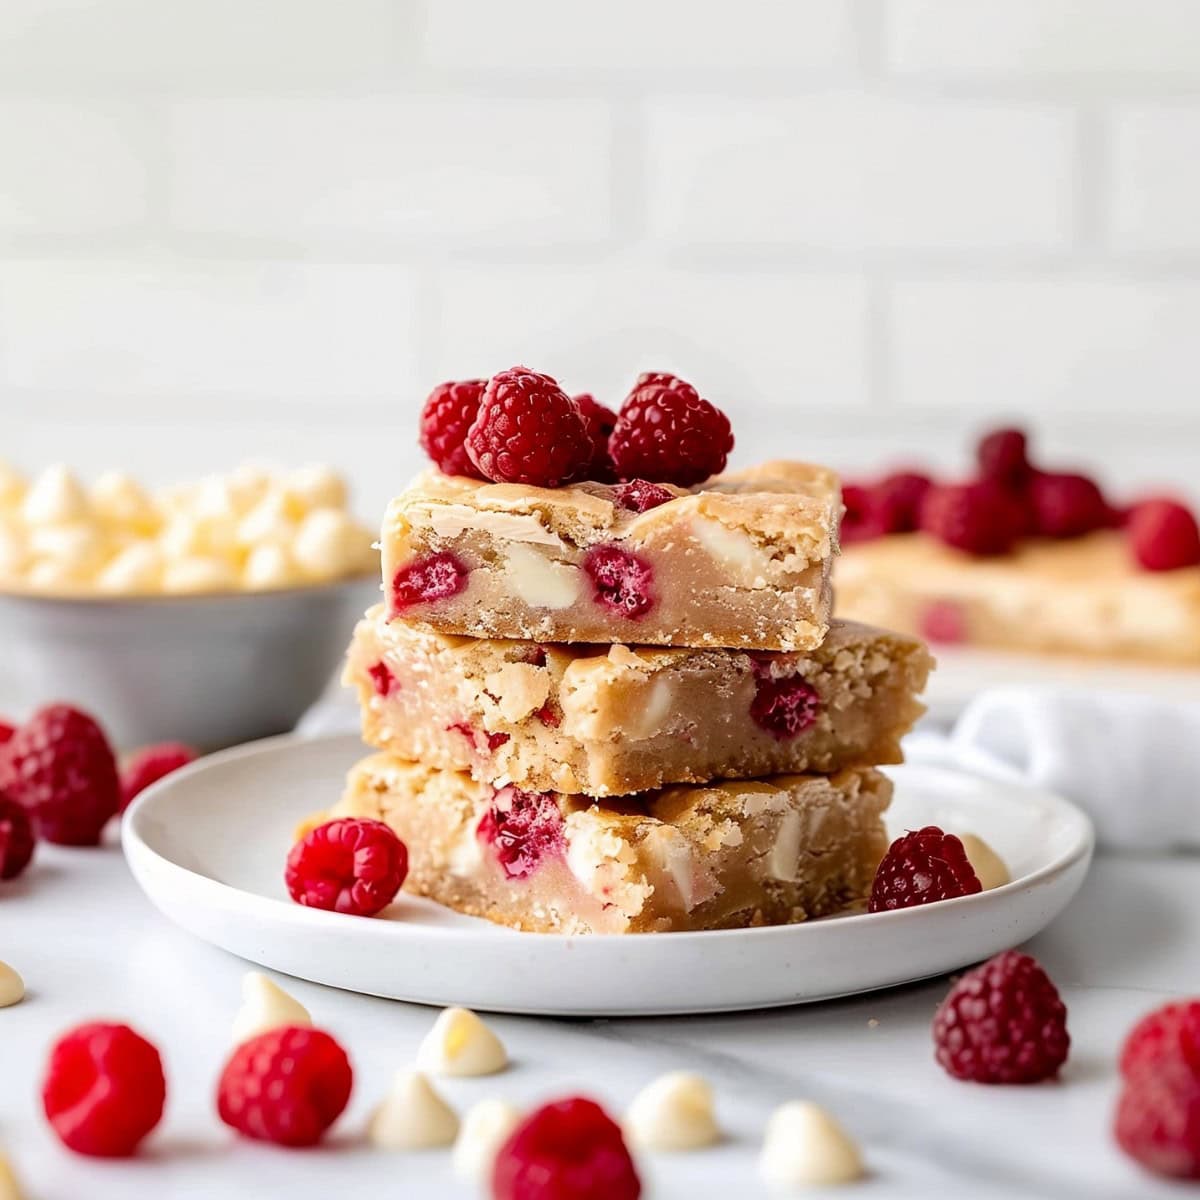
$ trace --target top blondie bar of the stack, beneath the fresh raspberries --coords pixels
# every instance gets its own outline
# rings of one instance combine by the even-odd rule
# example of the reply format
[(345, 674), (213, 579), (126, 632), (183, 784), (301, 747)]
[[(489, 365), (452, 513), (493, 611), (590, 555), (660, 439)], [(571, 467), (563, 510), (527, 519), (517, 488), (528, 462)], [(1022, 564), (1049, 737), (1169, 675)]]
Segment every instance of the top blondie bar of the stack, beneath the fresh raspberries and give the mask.
[(392, 617), (472, 637), (810, 649), (840, 511), (836, 476), (796, 462), (691, 491), (427, 470), (384, 517), (384, 592)]

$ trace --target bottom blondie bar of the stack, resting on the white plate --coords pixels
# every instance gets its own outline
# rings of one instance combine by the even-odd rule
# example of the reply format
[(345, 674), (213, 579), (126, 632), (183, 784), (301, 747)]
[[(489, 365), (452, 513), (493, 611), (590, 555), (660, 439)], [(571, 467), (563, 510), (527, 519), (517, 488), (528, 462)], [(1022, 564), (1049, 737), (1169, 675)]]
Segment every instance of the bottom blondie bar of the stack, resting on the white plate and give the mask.
[(784, 924), (860, 901), (887, 850), (870, 768), (668, 787), (594, 804), (374, 755), (330, 814), (385, 821), (404, 887), (516, 929), (624, 934)]

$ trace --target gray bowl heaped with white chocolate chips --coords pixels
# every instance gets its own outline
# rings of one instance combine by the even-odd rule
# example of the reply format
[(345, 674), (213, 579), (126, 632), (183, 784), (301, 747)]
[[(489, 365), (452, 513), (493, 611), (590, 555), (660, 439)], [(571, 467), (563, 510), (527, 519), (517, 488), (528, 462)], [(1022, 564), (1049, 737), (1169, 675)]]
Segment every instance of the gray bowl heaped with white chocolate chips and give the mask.
[(125, 749), (284, 732), (378, 592), (372, 541), (328, 467), (151, 492), (0, 464), (0, 713), (68, 701)]

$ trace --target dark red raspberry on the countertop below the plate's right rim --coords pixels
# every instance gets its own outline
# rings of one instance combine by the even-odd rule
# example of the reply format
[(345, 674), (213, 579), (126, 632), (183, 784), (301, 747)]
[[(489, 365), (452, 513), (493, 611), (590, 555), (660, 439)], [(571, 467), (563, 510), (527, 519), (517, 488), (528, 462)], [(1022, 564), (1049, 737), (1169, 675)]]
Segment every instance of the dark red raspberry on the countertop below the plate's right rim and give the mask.
[(1067, 1061), (1067, 1007), (1037, 960), (1004, 950), (950, 989), (934, 1016), (934, 1045), (955, 1079), (1037, 1084)]

